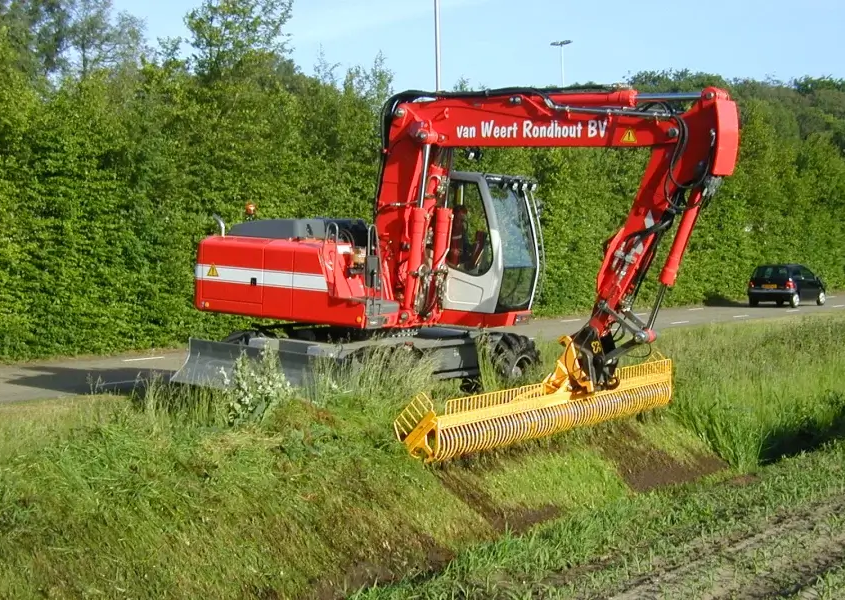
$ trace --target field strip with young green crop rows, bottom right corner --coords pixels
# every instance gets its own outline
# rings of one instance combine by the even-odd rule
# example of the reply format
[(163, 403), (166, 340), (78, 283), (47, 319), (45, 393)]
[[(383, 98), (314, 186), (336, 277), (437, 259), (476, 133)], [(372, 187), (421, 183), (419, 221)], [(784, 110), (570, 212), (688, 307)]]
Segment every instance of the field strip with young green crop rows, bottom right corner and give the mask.
[(845, 443), (582, 507), (462, 553), (432, 578), (352, 598), (841, 597)]

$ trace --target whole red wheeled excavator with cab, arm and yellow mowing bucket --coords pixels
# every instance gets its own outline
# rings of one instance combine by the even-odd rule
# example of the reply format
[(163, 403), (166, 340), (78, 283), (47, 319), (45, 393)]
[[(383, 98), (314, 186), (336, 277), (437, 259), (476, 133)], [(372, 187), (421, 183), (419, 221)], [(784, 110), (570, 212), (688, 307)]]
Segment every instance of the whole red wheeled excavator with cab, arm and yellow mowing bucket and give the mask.
[[(620, 359), (655, 340), (656, 315), (699, 212), (734, 171), (739, 114), (727, 92), (407, 91), (385, 103), (381, 125), (371, 223), (250, 219), (227, 233), (218, 217), (220, 235), (198, 248), (196, 307), (278, 323), (221, 342), (191, 339), (173, 381), (225, 386), (240, 355), (268, 348), (301, 383), (314, 357), (348, 360), (399, 344), (437, 357), (439, 377), (471, 380), (487, 328), (501, 374), (519, 375), (538, 360), (532, 340), (495, 328), (527, 320), (540, 283), (537, 184), (455, 171), (455, 149), (472, 158), (483, 147), (647, 147), (627, 219), (605, 244), (593, 312), (560, 339), (554, 372), (538, 384), (449, 401), (440, 416), (421, 394), (394, 426), (413, 455), (444, 460), (669, 401), (670, 361)], [(676, 220), (656, 301), (640, 320), (633, 302)]]

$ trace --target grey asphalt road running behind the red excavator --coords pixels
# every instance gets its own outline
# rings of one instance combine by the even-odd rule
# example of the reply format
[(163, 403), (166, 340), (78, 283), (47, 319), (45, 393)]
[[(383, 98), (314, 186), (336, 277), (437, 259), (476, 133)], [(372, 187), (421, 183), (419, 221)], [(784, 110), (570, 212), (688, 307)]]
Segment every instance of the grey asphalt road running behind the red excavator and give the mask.
[[(837, 297), (838, 296), (838, 297)], [(731, 301), (718, 306), (663, 309), (655, 329), (687, 327), (706, 323), (738, 322), (755, 319), (799, 316), (845, 310), (845, 292), (828, 296), (824, 306), (801, 305), (796, 309), (762, 305), (755, 308)], [(638, 312), (645, 317), (648, 313)], [(586, 320), (585, 315), (555, 319), (536, 319), (511, 327), (538, 339), (556, 339), (572, 333)], [(40, 361), (0, 367), (0, 403), (59, 398), (91, 392), (128, 391), (141, 385), (151, 375), (164, 381), (178, 370), (186, 358), (186, 350), (155, 353), (134, 353), (107, 358), (76, 358)]]

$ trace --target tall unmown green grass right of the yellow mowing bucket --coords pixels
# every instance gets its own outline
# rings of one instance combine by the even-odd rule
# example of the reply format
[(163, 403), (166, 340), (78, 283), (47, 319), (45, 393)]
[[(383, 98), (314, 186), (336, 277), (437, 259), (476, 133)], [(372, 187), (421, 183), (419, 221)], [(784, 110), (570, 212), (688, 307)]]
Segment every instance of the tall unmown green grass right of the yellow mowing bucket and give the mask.
[(670, 411), (743, 469), (838, 435), (843, 324), (826, 315), (667, 334), (663, 346), (676, 370)]

